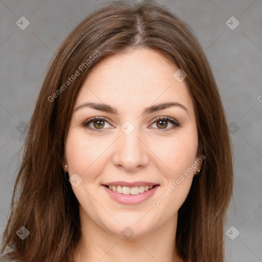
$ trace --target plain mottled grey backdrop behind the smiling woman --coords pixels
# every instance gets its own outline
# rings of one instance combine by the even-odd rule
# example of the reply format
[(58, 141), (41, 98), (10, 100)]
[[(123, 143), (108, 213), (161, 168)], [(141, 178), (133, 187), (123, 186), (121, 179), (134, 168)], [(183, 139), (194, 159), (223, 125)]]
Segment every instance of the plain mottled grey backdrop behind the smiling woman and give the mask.
[[(262, 1), (158, 2), (187, 21), (197, 33), (232, 128), (235, 179), (225, 228), (227, 260), (262, 261)], [(0, 0), (1, 235), (21, 162), (23, 128), (33, 113), (47, 65), (78, 21), (104, 3)], [(16, 25), (21, 16), (30, 21), (25, 30)], [(231, 16), (240, 23), (234, 30), (226, 24)], [(234, 20), (228, 23), (231, 27), (236, 25)], [(234, 228), (229, 229), (231, 226)], [(240, 233), (236, 237), (237, 230)]]

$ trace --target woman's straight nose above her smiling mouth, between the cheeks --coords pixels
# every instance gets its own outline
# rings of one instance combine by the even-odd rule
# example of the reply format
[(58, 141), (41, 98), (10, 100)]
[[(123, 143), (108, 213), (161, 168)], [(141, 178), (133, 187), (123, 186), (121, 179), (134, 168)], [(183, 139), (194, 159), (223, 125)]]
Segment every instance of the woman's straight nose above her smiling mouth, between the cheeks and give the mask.
[(143, 141), (138, 128), (130, 134), (119, 130), (119, 138), (115, 142), (113, 163), (126, 172), (137, 172), (149, 163), (149, 149)]

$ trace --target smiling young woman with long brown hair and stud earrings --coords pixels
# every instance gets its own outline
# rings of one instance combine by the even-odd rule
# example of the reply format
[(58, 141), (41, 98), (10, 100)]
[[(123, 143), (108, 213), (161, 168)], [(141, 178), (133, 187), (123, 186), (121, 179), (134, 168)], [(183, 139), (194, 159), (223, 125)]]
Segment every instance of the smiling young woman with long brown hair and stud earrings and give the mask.
[(113, 2), (50, 65), (1, 252), (25, 262), (224, 261), (231, 155), (192, 30), (155, 2)]

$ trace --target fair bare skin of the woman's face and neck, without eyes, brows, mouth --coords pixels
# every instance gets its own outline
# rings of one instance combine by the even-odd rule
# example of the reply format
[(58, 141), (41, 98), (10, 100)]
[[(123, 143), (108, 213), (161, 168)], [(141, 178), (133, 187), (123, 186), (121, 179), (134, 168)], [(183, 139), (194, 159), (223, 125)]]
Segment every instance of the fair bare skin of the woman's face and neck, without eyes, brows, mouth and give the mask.
[[(173, 250), (178, 210), (201, 164), (158, 207), (152, 205), (200, 158), (193, 102), (186, 81), (173, 77), (178, 69), (156, 51), (143, 48), (103, 59), (83, 82), (75, 109), (85, 102), (106, 103), (119, 115), (83, 107), (70, 121), (64, 170), (82, 179), (72, 186), (80, 203), (82, 232), (76, 262), (183, 261)], [(173, 106), (142, 115), (145, 107), (163, 102), (179, 102), (188, 113)], [(168, 122), (161, 129), (159, 120), (150, 123), (165, 116), (181, 125), (171, 129), (174, 125)], [(99, 129), (95, 120), (88, 129), (82, 122), (91, 117), (105, 117), (107, 122)], [(129, 135), (121, 129), (126, 121), (135, 128)], [(114, 181), (148, 181), (160, 187), (146, 201), (127, 205), (112, 199), (102, 186)], [(121, 233), (127, 226), (134, 232), (129, 239)]]

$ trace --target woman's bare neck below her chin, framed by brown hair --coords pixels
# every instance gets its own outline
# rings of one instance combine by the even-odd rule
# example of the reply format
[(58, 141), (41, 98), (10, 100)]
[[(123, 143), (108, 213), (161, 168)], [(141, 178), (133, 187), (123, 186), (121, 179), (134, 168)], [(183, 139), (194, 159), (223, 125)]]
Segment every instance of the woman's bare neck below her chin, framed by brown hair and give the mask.
[(81, 206), (79, 214), (81, 239), (74, 252), (75, 262), (183, 262), (174, 249), (177, 214), (158, 228), (128, 239), (95, 223)]

